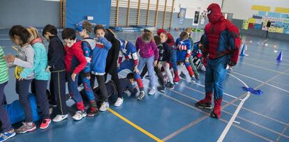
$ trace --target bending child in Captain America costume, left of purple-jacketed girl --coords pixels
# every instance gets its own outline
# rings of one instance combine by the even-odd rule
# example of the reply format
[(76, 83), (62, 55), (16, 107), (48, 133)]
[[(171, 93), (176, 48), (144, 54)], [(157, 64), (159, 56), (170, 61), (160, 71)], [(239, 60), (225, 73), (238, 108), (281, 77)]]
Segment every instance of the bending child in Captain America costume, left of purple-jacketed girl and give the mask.
[[(144, 95), (144, 86), (138, 70), (138, 53), (135, 49), (135, 45), (128, 40), (119, 40), (119, 42), (121, 42), (121, 46), (119, 52), (119, 63), (117, 64), (119, 67), (118, 72), (121, 72), (121, 70), (124, 69), (131, 70), (131, 72), (135, 74), (135, 79), (138, 83), (138, 87), (140, 88), (140, 95)], [(123, 56), (126, 58), (126, 60), (121, 62)], [(116, 107), (119, 107), (123, 102), (122, 94), (119, 95), (121, 95), (121, 99), (118, 99), (117, 102), (115, 102), (114, 106)], [(119, 102), (119, 100), (121, 100), (121, 102)]]

